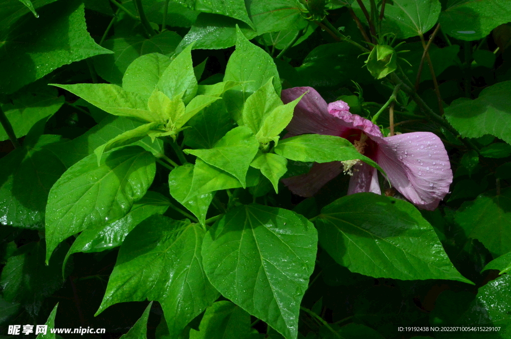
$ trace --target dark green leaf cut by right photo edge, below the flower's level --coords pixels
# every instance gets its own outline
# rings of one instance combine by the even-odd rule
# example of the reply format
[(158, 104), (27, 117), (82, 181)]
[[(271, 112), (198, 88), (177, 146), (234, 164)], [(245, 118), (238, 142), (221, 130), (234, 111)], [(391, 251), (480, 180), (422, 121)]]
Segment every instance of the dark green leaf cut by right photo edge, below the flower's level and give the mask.
[(511, 189), (481, 194), (464, 202), (455, 220), (467, 237), (477, 239), (495, 256), (511, 251)]

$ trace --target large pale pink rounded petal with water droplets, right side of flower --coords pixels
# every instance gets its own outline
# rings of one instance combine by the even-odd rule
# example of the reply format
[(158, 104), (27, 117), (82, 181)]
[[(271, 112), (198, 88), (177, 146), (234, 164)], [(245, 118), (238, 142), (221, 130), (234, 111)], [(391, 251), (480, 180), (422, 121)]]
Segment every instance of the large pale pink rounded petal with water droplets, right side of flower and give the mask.
[(449, 193), (451, 163), (444, 144), (430, 132), (405, 133), (384, 138), (376, 162), (390, 184), (415, 205), (434, 210)]

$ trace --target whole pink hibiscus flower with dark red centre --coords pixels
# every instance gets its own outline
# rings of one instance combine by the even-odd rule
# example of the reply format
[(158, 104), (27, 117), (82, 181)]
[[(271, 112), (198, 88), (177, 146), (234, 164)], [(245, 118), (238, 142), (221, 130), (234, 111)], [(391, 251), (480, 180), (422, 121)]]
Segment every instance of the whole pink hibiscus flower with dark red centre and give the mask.
[[(449, 193), (453, 178), (451, 164), (444, 144), (436, 135), (414, 132), (383, 137), (377, 125), (350, 113), (347, 103), (339, 100), (327, 104), (311, 87), (284, 90), (282, 100), (288, 103), (304, 93), (286, 127), (289, 132), (286, 138), (316, 133), (350, 140), (360, 153), (380, 165), (394, 189), (426, 210), (434, 210)], [(283, 182), (293, 193), (310, 197), (341, 172), (352, 175), (347, 194), (381, 194), (377, 170), (360, 161), (316, 163), (309, 173)]]

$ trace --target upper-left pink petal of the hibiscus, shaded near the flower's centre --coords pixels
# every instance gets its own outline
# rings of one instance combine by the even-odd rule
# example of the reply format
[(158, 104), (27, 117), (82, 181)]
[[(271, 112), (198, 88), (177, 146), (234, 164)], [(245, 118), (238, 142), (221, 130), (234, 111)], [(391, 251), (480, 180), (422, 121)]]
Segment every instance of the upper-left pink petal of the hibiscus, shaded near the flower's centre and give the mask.
[(286, 129), (286, 137), (306, 133), (340, 136), (345, 127), (340, 120), (328, 113), (327, 102), (312, 87), (294, 87), (282, 91), (282, 101), (289, 103), (306, 93), (294, 108), (294, 115)]

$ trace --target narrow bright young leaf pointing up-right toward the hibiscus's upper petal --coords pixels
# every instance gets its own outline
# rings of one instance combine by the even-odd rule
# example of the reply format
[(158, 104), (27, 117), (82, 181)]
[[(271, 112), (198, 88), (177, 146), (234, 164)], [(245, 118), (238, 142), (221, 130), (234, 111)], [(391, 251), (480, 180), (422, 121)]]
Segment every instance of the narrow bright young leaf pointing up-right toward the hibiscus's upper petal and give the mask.
[[(289, 124), (293, 118), (294, 107), (301, 100), (304, 94), (283, 106), (278, 106), (271, 113), (264, 117), (263, 124), (259, 132), (255, 135), (262, 144), (278, 141), (278, 135)], [(248, 100), (247, 100), (248, 101)]]

